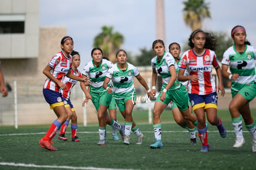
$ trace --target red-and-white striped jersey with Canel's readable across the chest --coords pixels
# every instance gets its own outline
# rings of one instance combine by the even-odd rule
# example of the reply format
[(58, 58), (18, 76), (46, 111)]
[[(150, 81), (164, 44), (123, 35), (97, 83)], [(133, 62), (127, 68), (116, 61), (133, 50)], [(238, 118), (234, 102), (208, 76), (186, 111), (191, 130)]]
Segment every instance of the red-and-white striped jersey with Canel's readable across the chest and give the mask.
[(206, 49), (202, 56), (197, 56), (193, 49), (189, 49), (182, 55), (179, 62), (180, 69), (187, 69), (189, 75), (198, 75), (198, 82), (189, 81), (188, 91), (190, 94), (208, 95), (216, 91), (213, 80), (212, 66), (218, 67), (218, 59), (214, 51)]

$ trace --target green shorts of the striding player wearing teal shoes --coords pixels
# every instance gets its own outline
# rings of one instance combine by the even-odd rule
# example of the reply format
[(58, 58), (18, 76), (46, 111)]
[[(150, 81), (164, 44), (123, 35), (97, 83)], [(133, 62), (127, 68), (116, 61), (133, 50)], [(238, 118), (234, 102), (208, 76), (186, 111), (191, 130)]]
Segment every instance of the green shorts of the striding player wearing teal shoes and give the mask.
[[(180, 88), (174, 89), (174, 90), (167, 90), (165, 95), (165, 100), (161, 101), (160, 96), (163, 92), (164, 86), (161, 88), (161, 91), (156, 98), (156, 102), (161, 102), (166, 105), (168, 105), (171, 101), (176, 104), (177, 108), (179, 108), (180, 111), (185, 111), (187, 107), (189, 106), (189, 95), (187, 93), (186, 87), (183, 85)], [(173, 107), (172, 107), (173, 108)]]

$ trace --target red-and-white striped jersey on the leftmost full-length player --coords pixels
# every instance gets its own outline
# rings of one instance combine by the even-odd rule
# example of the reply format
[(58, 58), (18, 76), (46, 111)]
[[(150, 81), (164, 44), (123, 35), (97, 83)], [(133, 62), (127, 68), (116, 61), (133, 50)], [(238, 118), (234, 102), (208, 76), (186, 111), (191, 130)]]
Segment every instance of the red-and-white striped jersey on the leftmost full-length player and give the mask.
[[(62, 79), (64, 79), (64, 75), (66, 75), (71, 68), (71, 58), (71, 56), (65, 56), (63, 51), (61, 51), (55, 54), (55, 56), (53, 56), (51, 58), (51, 61), (48, 63), (48, 65), (52, 67), (51, 74), (61, 82)], [(60, 92), (59, 86), (49, 78), (45, 80), (45, 85), (43, 86), (43, 88), (48, 88), (49, 90)]]

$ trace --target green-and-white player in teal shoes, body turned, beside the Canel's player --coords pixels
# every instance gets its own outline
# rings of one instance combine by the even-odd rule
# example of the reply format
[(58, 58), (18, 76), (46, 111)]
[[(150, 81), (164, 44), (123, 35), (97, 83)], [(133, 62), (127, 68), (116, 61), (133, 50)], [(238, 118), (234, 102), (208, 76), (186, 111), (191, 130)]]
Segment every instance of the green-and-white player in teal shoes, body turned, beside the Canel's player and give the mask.
[(155, 143), (150, 148), (163, 148), (161, 140), (161, 113), (172, 101), (182, 113), (184, 119), (191, 121), (197, 125), (197, 117), (189, 112), (188, 100), (189, 96), (184, 85), (177, 81), (177, 64), (173, 56), (165, 52), (163, 40), (153, 41), (152, 49), (156, 56), (151, 59), (152, 66), (152, 93), (156, 94), (156, 77), (159, 74), (163, 78), (163, 86), (160, 94), (156, 98), (153, 109), (153, 129), (155, 134)]

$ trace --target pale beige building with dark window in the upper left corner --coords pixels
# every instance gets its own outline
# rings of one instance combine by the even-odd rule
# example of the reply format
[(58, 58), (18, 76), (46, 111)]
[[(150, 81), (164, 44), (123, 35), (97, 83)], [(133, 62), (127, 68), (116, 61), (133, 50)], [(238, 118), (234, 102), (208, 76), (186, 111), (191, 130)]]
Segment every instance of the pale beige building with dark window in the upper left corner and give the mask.
[(0, 41), (6, 77), (30, 75), (36, 69), (39, 0), (0, 0)]

